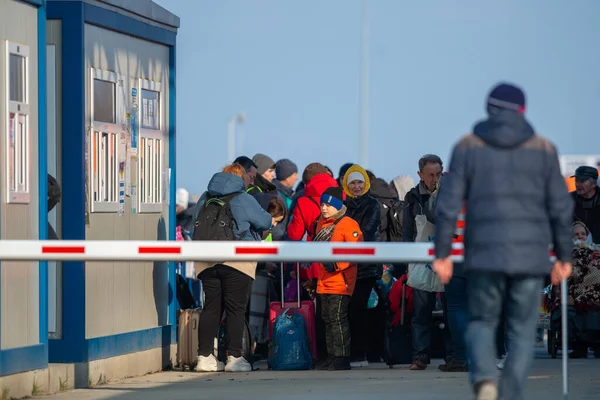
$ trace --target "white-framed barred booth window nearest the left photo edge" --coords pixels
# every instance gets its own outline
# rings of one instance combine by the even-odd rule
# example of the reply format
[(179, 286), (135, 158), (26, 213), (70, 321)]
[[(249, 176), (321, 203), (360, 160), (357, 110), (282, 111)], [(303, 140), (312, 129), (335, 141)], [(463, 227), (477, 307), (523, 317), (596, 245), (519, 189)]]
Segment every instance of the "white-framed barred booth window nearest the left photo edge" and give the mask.
[(8, 109), (6, 171), (8, 203), (28, 204), (29, 154), (29, 47), (7, 42)]

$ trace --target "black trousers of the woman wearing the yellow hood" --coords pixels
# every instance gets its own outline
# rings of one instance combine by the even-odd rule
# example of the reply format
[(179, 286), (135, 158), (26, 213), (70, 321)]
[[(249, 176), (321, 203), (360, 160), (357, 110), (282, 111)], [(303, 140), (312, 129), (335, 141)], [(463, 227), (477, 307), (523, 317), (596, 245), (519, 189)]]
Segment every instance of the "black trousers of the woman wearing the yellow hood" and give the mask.
[(369, 296), (376, 278), (358, 279), (350, 302), (350, 329), (352, 330), (352, 357), (367, 359), (369, 351)]

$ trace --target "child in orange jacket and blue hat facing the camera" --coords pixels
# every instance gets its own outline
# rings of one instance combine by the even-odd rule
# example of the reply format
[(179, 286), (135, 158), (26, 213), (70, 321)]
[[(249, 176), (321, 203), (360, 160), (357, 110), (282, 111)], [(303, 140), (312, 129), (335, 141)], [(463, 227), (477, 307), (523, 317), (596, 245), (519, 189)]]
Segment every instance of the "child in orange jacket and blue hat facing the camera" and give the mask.
[[(346, 217), (342, 188), (330, 187), (321, 196), (321, 216), (314, 242), (362, 242), (358, 223)], [(321, 370), (350, 369), (350, 323), (348, 305), (356, 284), (357, 265), (349, 262), (319, 264), (317, 294), (325, 322), (328, 359), (317, 364)]]

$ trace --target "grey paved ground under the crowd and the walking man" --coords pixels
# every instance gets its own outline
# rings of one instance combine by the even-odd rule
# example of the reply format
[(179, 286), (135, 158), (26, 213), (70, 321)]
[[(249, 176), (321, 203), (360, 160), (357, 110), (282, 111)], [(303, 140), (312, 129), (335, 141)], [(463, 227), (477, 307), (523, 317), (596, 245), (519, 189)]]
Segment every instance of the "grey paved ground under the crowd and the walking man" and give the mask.
[[(197, 374), (163, 372), (128, 379), (95, 389), (74, 390), (44, 399), (55, 400), (465, 400), (472, 398), (466, 373), (408, 371), (375, 364), (347, 372), (274, 372), (261, 368), (247, 374)], [(570, 400), (600, 399), (600, 360), (573, 360), (570, 367)], [(535, 361), (529, 379), (528, 399), (562, 399), (560, 360)]]

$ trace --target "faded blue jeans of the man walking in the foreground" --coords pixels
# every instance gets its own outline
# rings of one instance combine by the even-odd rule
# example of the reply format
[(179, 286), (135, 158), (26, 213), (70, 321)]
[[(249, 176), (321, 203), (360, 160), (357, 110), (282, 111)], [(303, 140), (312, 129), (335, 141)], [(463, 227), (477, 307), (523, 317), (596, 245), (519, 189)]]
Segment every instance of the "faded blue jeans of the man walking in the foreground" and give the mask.
[(466, 342), (473, 384), (498, 382), (495, 341), (504, 304), (509, 353), (499, 389), (502, 398), (524, 399), (527, 373), (534, 355), (543, 281), (542, 277), (507, 276), (496, 272), (472, 271), (468, 275), (469, 325)]

